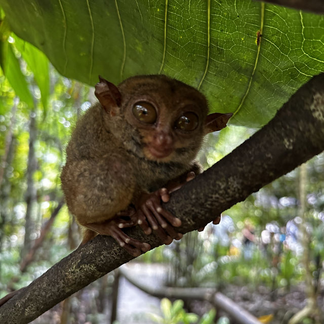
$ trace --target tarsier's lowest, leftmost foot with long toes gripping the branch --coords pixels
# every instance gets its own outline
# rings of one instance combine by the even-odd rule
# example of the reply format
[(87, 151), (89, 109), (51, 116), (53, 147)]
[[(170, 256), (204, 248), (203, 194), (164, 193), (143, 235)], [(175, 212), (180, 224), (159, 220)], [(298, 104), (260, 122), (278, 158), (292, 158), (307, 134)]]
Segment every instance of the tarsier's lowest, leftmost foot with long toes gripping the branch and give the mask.
[(95, 230), (99, 234), (112, 236), (129, 254), (138, 257), (141, 254), (141, 251), (147, 252), (151, 249), (151, 246), (145, 242), (141, 242), (128, 236), (121, 230), (121, 228), (132, 227), (134, 225), (136, 225), (136, 223), (132, 220), (114, 217), (113, 219), (103, 223), (87, 224), (87, 227)]

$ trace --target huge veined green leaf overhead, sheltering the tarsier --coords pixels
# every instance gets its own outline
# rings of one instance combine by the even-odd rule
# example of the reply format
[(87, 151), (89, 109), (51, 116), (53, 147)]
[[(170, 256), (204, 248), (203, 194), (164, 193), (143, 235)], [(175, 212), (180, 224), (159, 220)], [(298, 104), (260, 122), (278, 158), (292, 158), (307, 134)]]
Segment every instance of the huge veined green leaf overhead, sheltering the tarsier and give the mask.
[[(324, 16), (249, 0), (0, 0), (12, 30), (94, 85), (164, 73), (260, 127), (324, 70)], [(258, 34), (260, 34), (258, 36)], [(261, 36), (262, 35), (262, 36)]]

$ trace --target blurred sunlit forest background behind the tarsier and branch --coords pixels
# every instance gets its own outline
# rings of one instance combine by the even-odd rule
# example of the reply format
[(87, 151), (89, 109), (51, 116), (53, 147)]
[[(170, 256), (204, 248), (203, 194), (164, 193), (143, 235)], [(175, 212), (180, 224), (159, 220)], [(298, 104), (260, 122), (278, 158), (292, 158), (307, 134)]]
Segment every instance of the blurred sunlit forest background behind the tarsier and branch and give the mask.
[[(93, 88), (62, 77), (42, 52), (7, 31), (2, 23), (0, 297), (28, 285), (79, 244), (59, 175), (71, 129), (94, 101)], [(209, 135), (201, 164), (213, 165), (255, 131), (229, 126)], [(219, 225), (147, 252), (127, 268), (155, 286), (215, 288), (263, 323), (294, 324), (300, 310), (296, 323), (323, 323), (323, 188), (322, 153), (226, 211)], [(33, 322), (109, 323), (118, 277), (107, 274)], [(234, 323), (221, 310), (215, 315), (208, 302), (160, 304), (119, 282), (119, 297), (126, 296), (114, 308), (120, 323)]]

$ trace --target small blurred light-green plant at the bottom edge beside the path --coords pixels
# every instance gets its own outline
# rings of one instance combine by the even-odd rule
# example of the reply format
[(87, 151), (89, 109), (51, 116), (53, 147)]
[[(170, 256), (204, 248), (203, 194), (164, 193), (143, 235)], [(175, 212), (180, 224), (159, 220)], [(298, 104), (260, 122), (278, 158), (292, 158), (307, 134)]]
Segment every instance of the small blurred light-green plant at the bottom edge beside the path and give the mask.
[(150, 313), (149, 316), (155, 323), (159, 324), (212, 324), (216, 315), (216, 311), (212, 309), (205, 314), (198, 322), (198, 315), (194, 313), (187, 313), (183, 309), (183, 301), (178, 299), (173, 304), (168, 298), (161, 300), (160, 309), (162, 316)]

